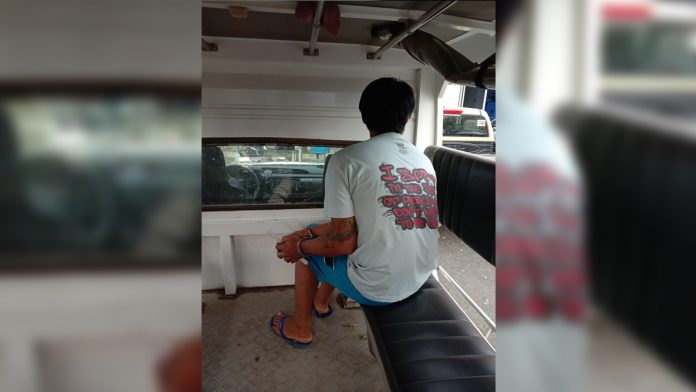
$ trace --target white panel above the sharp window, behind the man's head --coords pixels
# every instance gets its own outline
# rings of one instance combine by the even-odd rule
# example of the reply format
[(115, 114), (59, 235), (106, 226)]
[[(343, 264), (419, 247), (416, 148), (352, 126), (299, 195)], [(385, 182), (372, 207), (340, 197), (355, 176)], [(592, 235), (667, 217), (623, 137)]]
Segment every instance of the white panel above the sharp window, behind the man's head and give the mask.
[[(282, 72), (282, 68), (277, 69)], [(412, 75), (415, 71), (410, 72)], [(243, 76), (244, 88), (203, 89), (205, 137), (295, 137), (362, 141), (369, 137), (358, 103), (364, 86), (379, 77), (357, 79), (216, 74), (220, 86)], [(411, 83), (418, 95), (419, 88)], [(257, 86), (258, 89), (251, 87)], [(263, 88), (262, 88), (263, 87)], [(428, 101), (429, 102), (429, 101)], [(417, 116), (404, 136), (414, 141)]]

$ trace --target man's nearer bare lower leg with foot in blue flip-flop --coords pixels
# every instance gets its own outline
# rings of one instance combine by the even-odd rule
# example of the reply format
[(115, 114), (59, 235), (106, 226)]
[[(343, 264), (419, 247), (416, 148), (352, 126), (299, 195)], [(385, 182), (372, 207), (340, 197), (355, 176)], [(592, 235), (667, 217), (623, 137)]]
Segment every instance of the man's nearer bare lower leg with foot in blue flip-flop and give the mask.
[[(285, 336), (299, 342), (312, 340), (312, 306), (317, 291), (314, 272), (301, 261), (295, 263), (295, 316), (285, 319)], [(278, 332), (280, 316), (273, 318), (273, 329)]]

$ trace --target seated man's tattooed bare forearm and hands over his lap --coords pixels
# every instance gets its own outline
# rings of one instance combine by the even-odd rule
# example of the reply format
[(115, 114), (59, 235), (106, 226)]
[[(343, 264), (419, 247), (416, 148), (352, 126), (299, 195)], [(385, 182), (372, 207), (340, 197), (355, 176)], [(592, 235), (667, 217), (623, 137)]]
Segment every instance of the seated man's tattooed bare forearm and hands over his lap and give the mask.
[[(328, 228), (324, 233), (316, 230), (317, 227), (312, 228), (312, 232), (319, 236), (302, 241), (302, 253), (334, 257), (355, 251), (358, 245), (358, 225), (355, 217), (331, 218), (331, 222), (318, 227), (324, 228), (324, 226)], [(297, 252), (297, 242), (300, 239), (301, 237), (296, 235), (283, 237), (283, 240), (276, 245), (278, 258), (288, 262), (299, 260), (301, 257)]]

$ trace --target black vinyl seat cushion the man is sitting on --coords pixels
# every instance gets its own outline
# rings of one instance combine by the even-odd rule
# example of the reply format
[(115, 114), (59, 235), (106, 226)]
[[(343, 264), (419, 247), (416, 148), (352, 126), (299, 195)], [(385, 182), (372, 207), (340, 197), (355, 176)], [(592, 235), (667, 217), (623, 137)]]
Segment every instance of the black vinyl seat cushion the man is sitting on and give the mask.
[(495, 352), (434, 278), (363, 312), (392, 391), (494, 391)]

